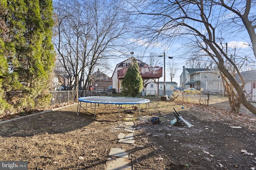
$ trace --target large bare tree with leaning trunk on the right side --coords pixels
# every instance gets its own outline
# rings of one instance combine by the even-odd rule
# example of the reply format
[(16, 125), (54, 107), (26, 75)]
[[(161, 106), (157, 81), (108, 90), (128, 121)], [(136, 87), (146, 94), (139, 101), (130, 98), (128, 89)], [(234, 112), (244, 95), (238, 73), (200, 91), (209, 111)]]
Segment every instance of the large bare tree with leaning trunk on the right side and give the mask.
[[(240, 33), (245, 35), (246, 32), (243, 32), (242, 29), (245, 27), (254, 51), (254, 58), (251, 57), (249, 62), (255, 62), (255, 3), (251, 0), (139, 2), (140, 4), (134, 4), (138, 14), (143, 15), (144, 18), (148, 17), (148, 22), (142, 22), (139, 29), (147, 39), (151, 38), (150, 42), (162, 39), (170, 43), (178, 37), (190, 40), (188, 44), (191, 47), (199, 48), (202, 54), (211, 57), (222, 75), (232, 84), (234, 92), (237, 94), (237, 104), (242, 103), (256, 115), (256, 107), (246, 99), (243, 90), (245, 82), (240, 70), (230, 56), (225, 53), (220, 41), (224, 34), (231, 37)], [(229, 63), (234, 68), (242, 80), (242, 85), (237, 82), (225, 63)]]

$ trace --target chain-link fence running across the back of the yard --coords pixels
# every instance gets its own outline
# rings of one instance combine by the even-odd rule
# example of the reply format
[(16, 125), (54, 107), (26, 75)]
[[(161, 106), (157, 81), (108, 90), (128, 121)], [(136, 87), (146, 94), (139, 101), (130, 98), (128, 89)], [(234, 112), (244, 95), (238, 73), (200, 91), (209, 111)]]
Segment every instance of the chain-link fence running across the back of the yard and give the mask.
[[(50, 91), (50, 94), (51, 94), (50, 106), (76, 102), (76, 97), (77, 97), (76, 91)], [(161, 96), (166, 96), (166, 95), (169, 99), (174, 98), (175, 101), (179, 101), (181, 103), (190, 102), (190, 103), (202, 104), (206, 106), (214, 106), (226, 111), (230, 111), (230, 104), (228, 101), (228, 96), (226, 94), (214, 94), (214, 93), (188, 94), (182, 91), (159, 90), (159, 91), (147, 91), (146, 93), (141, 92), (140, 95), (137, 97), (157, 98), (161, 100)], [(6, 96), (5, 96), (6, 101), (9, 101), (10, 103), (15, 104), (13, 96), (16, 96), (18, 100), (18, 97), (20, 96), (20, 92), (8, 92), (8, 94), (6, 93)], [(115, 92), (112, 92), (112, 91), (106, 91), (106, 90), (105, 91), (96, 91), (96, 90), (78, 91), (78, 98), (85, 97), (85, 96), (119, 96), (119, 94), (116, 94)], [(256, 106), (256, 100), (254, 100), (256, 99), (256, 96), (247, 96), (247, 98), (248, 98), (248, 101), (250, 101), (254, 106)], [(37, 108), (34, 108), (34, 109), (37, 109)], [(241, 106), (240, 113), (253, 115), (244, 106)]]

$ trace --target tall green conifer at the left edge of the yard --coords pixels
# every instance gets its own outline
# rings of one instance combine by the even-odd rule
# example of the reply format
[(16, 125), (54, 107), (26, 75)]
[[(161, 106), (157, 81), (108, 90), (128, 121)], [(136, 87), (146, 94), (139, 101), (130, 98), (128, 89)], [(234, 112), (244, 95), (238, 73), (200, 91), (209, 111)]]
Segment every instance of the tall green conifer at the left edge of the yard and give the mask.
[(2, 0), (0, 8), (0, 29), (5, 33), (0, 34), (0, 86), (7, 92), (22, 91), (10, 99), (20, 111), (49, 104), (52, 0)]

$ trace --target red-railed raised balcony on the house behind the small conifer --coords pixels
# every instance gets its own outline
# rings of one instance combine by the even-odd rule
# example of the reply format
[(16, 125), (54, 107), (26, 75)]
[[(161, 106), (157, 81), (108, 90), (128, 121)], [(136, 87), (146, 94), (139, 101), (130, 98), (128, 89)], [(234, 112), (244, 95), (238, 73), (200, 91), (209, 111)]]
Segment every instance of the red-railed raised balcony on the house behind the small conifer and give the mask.
[[(117, 71), (118, 78), (124, 78), (128, 68), (123, 68)], [(160, 78), (162, 77), (163, 68), (162, 67), (139, 67), (140, 75), (142, 79)]]

